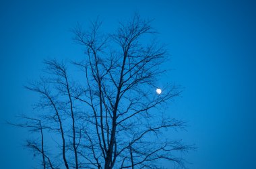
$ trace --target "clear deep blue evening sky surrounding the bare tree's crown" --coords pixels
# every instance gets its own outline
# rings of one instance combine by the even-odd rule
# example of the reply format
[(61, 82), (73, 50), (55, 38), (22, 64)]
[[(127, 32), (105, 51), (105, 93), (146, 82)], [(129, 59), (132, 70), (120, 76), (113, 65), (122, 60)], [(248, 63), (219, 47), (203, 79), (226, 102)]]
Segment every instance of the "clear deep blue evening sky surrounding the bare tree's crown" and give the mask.
[(4, 1), (0, 2), (0, 168), (32, 168), (22, 147), (27, 133), (4, 124), (31, 111), (36, 96), (23, 85), (40, 74), (44, 58), (81, 59), (71, 40), (77, 21), (100, 17), (104, 30), (137, 11), (154, 18), (168, 44), (163, 80), (185, 87), (170, 105), (188, 121), (179, 137), (197, 150), (191, 169), (256, 168), (256, 4), (254, 1)]

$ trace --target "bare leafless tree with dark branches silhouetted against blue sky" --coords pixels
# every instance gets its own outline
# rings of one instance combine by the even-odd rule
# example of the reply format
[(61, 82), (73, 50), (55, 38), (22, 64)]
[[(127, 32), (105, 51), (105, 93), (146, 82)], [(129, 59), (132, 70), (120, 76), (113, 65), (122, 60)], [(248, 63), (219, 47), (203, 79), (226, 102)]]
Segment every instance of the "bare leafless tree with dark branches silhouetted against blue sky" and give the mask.
[(168, 54), (150, 23), (136, 14), (114, 34), (102, 34), (99, 21), (88, 31), (77, 25), (73, 40), (86, 54), (68, 65), (82, 70), (77, 76), (63, 62), (44, 61), (49, 76), (26, 87), (40, 95), (38, 115), (18, 124), (53, 135), (54, 150), (60, 150), (55, 156), (46, 156), (43, 135), (41, 148), (28, 142), (42, 154), (44, 168), (161, 168), (161, 160), (184, 167), (173, 154), (191, 147), (164, 135), (184, 125), (164, 113), (180, 91), (168, 85), (154, 93)]

